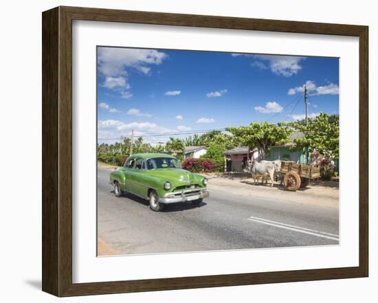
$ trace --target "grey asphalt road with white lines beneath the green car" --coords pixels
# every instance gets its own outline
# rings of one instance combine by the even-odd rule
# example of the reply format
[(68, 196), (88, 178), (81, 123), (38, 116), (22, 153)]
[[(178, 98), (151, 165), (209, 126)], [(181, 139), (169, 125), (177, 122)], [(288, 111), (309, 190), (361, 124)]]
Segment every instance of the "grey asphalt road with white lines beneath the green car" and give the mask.
[(337, 245), (338, 210), (210, 190), (199, 206), (171, 204), (162, 212), (109, 184), (98, 167), (98, 236), (120, 254)]

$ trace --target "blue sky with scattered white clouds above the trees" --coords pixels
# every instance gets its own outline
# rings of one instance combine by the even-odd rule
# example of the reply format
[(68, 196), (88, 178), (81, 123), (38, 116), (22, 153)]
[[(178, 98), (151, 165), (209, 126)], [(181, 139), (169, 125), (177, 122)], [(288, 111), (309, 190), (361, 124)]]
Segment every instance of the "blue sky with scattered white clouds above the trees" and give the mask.
[[(98, 47), (98, 141), (339, 112), (338, 58)], [(168, 136), (144, 141), (164, 142)]]

